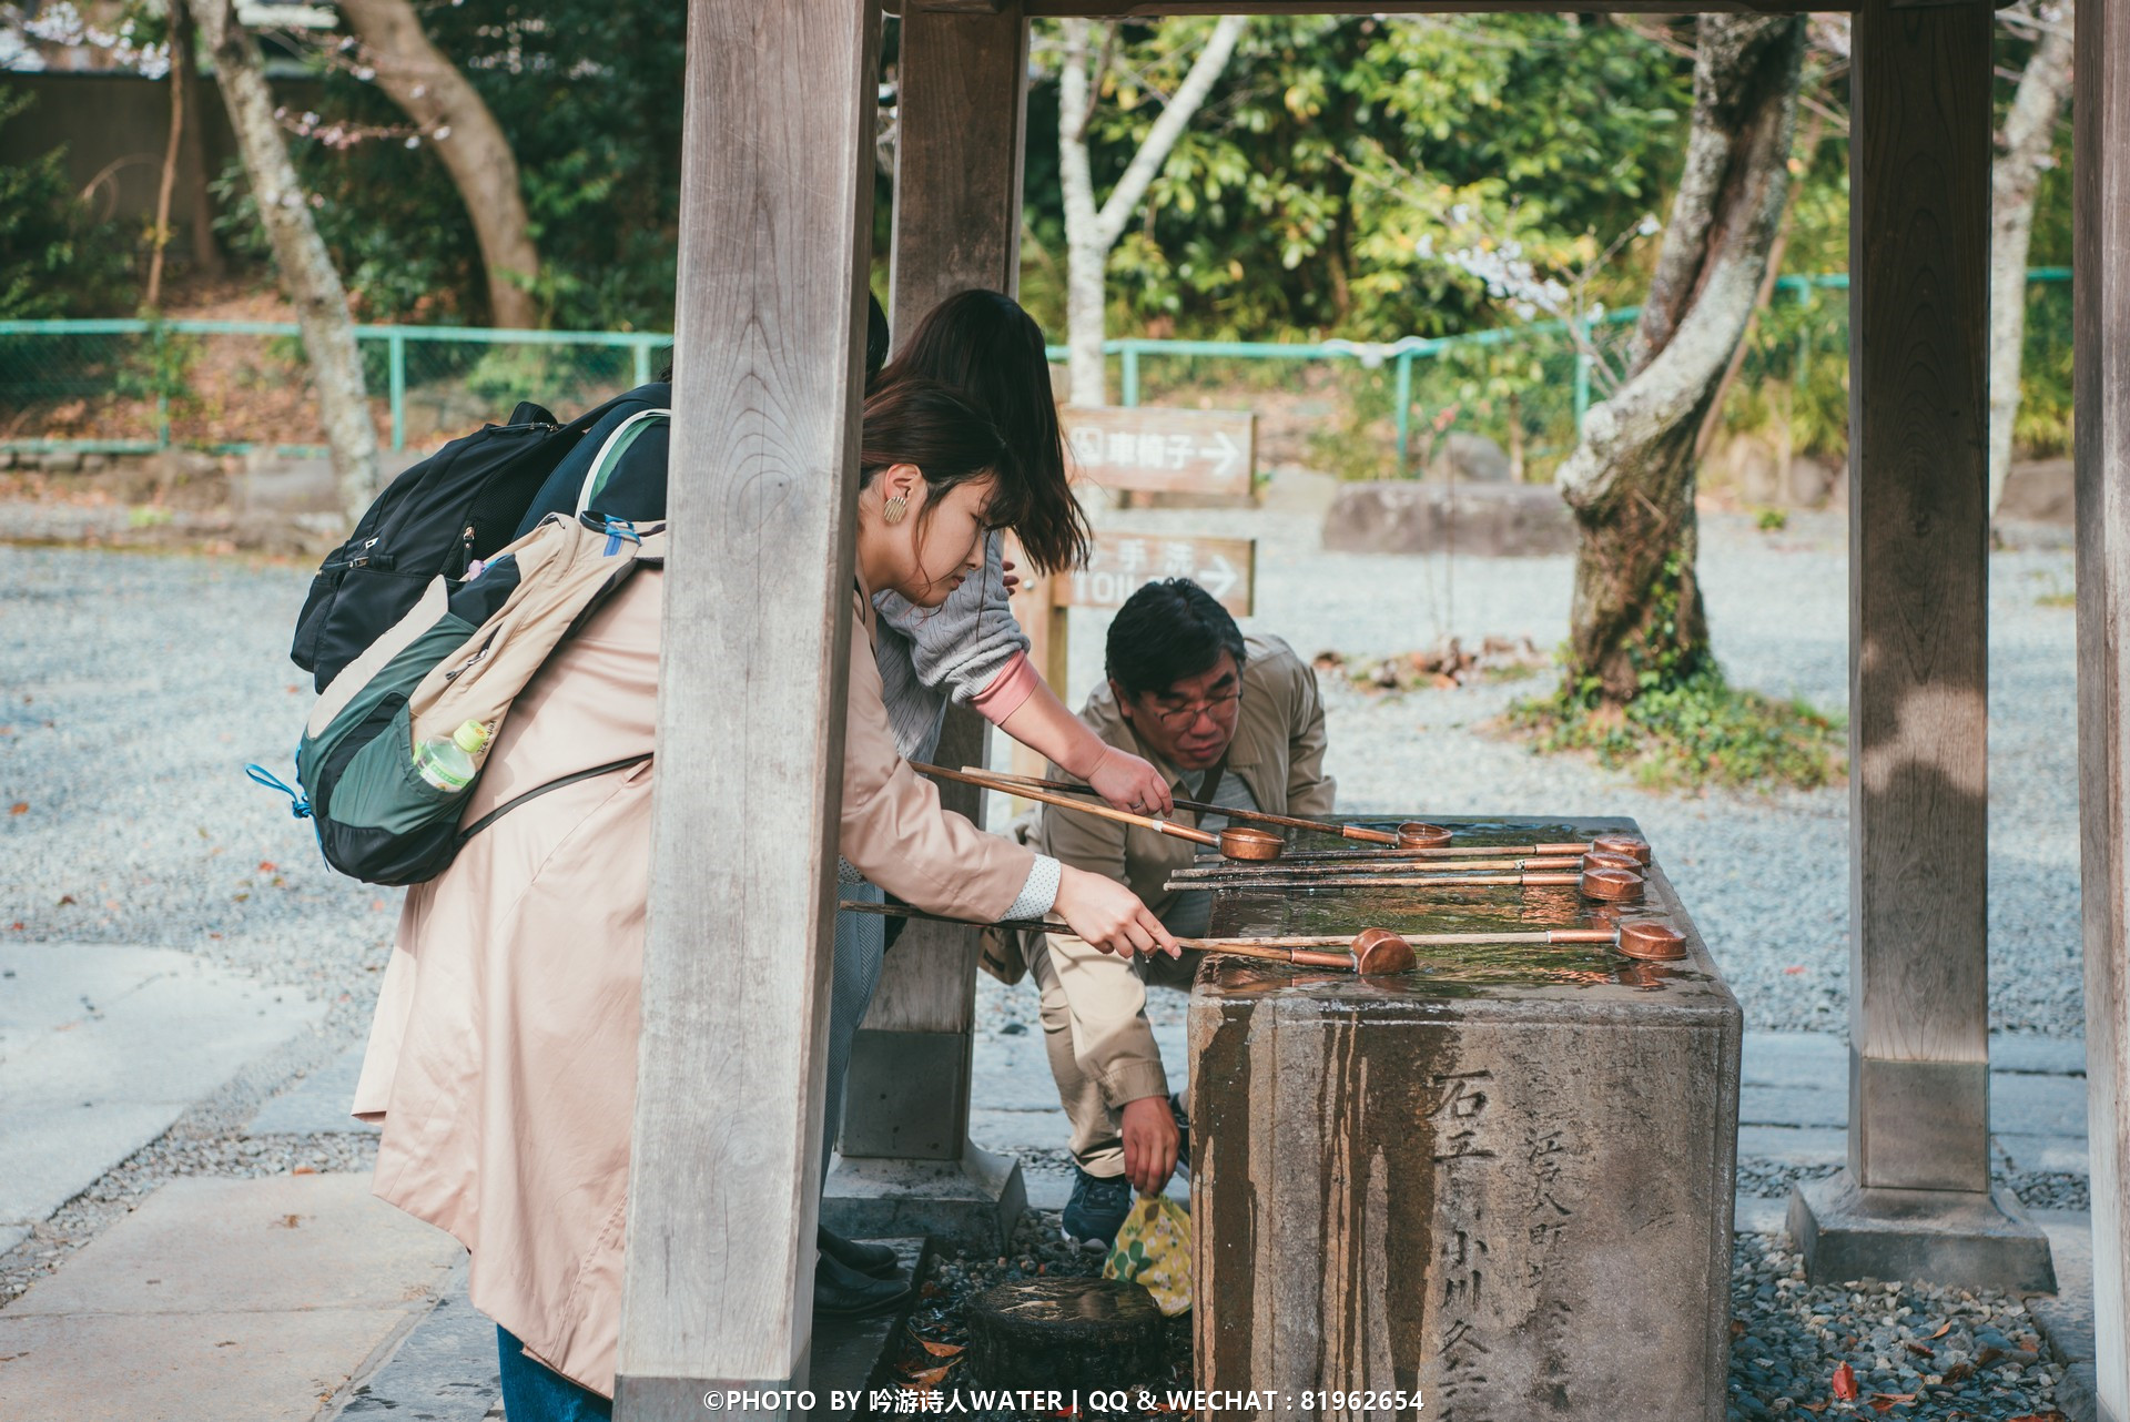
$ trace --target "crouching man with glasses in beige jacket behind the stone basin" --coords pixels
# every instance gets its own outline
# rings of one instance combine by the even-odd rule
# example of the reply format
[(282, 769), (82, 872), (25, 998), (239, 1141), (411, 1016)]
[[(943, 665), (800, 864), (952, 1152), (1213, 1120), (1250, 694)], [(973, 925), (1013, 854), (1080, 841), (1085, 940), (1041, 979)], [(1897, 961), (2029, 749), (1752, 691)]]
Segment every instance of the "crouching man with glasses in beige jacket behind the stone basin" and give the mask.
[[(1105, 743), (1144, 756), (1184, 800), (1276, 815), (1331, 813), (1323, 771), (1325, 713), (1316, 673), (1278, 636), (1244, 636), (1212, 594), (1189, 579), (1148, 583), (1110, 624), (1108, 685), (1080, 720)], [(1052, 779), (1063, 779), (1050, 766)], [(1178, 824), (1218, 830), (1225, 815), (1176, 811)], [(1203, 892), (1169, 892), (1197, 847), (1137, 826), (1044, 809), (1029, 843), (1135, 892), (1176, 935), (1203, 935)], [(1071, 1120), (1074, 1192), (1063, 1233), (1108, 1250), (1131, 1213), (1133, 1186), (1159, 1192), (1182, 1150), (1182, 1109), (1169, 1096), (1146, 1022), (1146, 986), (1189, 988), (1199, 954), (1114, 958), (1069, 935), (1020, 935), (1044, 1005), (1044, 1049)], [(993, 949), (997, 956), (997, 949)], [(1014, 981), (1018, 964), (1003, 966)], [(1189, 1164), (1189, 1162), (1186, 1162)]]

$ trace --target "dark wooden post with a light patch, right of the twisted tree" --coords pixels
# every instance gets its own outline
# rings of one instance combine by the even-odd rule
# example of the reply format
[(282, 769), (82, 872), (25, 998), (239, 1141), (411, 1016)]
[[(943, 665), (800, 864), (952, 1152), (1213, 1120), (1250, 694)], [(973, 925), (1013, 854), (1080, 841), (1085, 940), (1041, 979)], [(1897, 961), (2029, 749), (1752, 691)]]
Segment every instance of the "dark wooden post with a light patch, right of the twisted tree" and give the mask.
[(1989, 34), (1857, 15), (1849, 206), (1849, 1167), (1989, 1190)]

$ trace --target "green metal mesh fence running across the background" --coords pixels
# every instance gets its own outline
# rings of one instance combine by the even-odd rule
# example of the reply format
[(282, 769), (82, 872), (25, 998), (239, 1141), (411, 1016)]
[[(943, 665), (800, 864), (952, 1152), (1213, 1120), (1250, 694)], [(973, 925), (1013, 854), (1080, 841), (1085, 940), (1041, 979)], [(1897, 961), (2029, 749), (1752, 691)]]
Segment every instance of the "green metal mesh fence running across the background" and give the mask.
[[(2019, 439), (2051, 451), (2070, 424), (2070, 272), (2028, 275)], [(1725, 421), (1779, 428), (1796, 453), (1838, 458), (1849, 428), (1847, 275), (1783, 277), (1755, 321)], [(1576, 332), (1559, 321), (1391, 343), (1103, 343), (1125, 404), (1259, 411), (1263, 462), (1408, 475), (1451, 430), (1538, 466), (1574, 447), (1625, 366), (1636, 311)], [(358, 326), (379, 436), (430, 447), (518, 400), (571, 415), (650, 379), (662, 332)], [(1052, 360), (1065, 347), (1050, 347)], [(313, 451), (324, 430), (302, 343), (283, 321), (0, 321), (0, 449), (141, 453)]]

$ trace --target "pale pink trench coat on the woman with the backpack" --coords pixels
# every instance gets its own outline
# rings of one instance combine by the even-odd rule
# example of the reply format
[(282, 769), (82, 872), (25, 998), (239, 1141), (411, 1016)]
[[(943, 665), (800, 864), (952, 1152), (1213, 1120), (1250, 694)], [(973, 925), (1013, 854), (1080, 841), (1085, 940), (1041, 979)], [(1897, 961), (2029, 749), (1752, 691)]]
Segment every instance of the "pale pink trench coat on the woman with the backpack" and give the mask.
[[(652, 749), (656, 573), (639, 573), (511, 709), (466, 820)], [(939, 809), (895, 751), (858, 596), (841, 851), (939, 913), (999, 917), (1033, 856)], [(652, 766), (513, 809), (407, 892), (354, 1113), (381, 1122), (377, 1196), (473, 1252), (473, 1307), (613, 1394), (637, 1092)], [(705, 945), (716, 952), (716, 945)]]

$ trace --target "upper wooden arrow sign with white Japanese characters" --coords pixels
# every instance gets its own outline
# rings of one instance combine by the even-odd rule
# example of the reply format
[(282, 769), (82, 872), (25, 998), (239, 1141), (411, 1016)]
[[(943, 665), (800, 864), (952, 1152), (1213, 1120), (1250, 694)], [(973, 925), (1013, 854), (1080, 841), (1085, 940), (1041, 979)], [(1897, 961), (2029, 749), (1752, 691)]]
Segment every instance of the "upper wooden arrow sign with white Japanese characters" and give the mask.
[(1105, 490), (1250, 494), (1257, 415), (1150, 404), (1059, 409), (1076, 475)]

